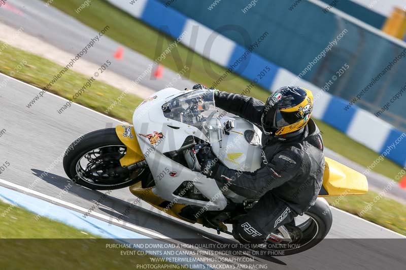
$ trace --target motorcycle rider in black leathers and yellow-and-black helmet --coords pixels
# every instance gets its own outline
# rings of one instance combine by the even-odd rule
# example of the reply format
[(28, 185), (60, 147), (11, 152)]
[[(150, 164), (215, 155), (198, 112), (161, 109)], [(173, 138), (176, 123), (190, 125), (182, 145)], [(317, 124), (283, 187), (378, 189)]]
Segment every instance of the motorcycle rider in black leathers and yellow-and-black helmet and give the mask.
[[(200, 84), (193, 87), (205, 88)], [(282, 87), (266, 103), (221, 91), (215, 92), (214, 99), (219, 108), (262, 130), (262, 164), (254, 172), (236, 174), (206, 150), (199, 155), (202, 173), (236, 194), (259, 198), (247, 215), (233, 224), (232, 233), (244, 244), (264, 243), (281, 225), (294, 225), (293, 218), (315, 204), (322, 186), (323, 140), (310, 119), (313, 94), (301, 87)], [(235, 175), (239, 176), (232, 179)]]

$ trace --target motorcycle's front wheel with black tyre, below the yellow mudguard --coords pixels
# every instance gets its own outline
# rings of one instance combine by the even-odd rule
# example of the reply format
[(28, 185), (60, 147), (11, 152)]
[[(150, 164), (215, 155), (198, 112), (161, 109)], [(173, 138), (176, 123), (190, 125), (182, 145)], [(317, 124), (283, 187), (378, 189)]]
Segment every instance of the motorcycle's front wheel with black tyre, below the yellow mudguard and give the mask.
[(148, 168), (129, 171), (120, 159), (127, 147), (117, 137), (115, 128), (96, 130), (73, 142), (65, 152), (63, 169), (77, 184), (90, 189), (109, 190), (141, 181)]

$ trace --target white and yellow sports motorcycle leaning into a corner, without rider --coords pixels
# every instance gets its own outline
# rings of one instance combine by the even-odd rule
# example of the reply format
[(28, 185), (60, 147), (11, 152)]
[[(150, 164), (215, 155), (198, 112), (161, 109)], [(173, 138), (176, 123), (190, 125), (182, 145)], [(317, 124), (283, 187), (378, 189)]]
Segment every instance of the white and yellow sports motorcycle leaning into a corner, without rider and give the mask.
[[(220, 112), (213, 89), (160, 90), (136, 108), (132, 122), (90, 132), (72, 144), (63, 160), (67, 176), (96, 190), (129, 186), (134, 196), (167, 214), (231, 235), (226, 224), (237, 223), (258, 199), (244, 198), (201, 174), (198, 152), (210, 146), (225, 166), (255, 171), (262, 162), (261, 130)], [(364, 175), (329, 158), (325, 163), (315, 205), (268, 235), (267, 243), (281, 244), (273, 250), (296, 254), (325, 238), (332, 215), (322, 197), (367, 192)]]

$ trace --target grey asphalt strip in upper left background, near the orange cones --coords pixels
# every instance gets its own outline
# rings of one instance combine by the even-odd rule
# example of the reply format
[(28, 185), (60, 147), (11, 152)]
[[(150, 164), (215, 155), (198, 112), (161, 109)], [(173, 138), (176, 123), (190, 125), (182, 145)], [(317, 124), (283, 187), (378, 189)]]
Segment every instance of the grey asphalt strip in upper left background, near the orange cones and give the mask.
[[(91, 38), (98, 35), (98, 31), (51, 6), (46, 7), (43, 2), (38, 0), (8, 1), (7, 6), (0, 8), (0, 21), (16, 29), (23, 27), (24, 32), (65, 52), (72, 53), (72, 55), (77, 55)], [(100, 25), (100, 30), (105, 26)], [(124, 48), (123, 59), (115, 61), (114, 65), (109, 67), (110, 70), (129, 80), (137, 79), (152, 63), (152, 60), (113, 41), (107, 35), (100, 37), (99, 42), (96, 42), (82, 58), (102, 65), (107, 59), (115, 60), (113, 54), (119, 47)], [(154, 76), (147, 75), (140, 84), (151, 89), (162, 89), (164, 85), (171, 82), (176, 73), (165, 68), (161, 79), (157, 80)], [(173, 87), (184, 89), (192, 87), (193, 84), (190, 80), (182, 78), (182, 80), (174, 82)]]

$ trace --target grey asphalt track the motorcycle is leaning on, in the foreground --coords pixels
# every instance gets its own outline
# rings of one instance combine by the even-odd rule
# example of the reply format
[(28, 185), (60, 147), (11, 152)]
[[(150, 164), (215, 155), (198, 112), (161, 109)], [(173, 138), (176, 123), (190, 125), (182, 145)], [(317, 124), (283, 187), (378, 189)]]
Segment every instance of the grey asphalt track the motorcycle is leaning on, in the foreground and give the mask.
[[(40, 90), (0, 74), (0, 82), (4, 80), (7, 86), (0, 90), (0, 128), (6, 132), (0, 137), (0, 163), (8, 161), (10, 166), (0, 178), (57, 197), (69, 179), (61, 163), (56, 163), (49, 171), (47, 168), (76, 138), (90, 131), (114, 127), (120, 122), (77, 104), (58, 114), (57, 109), (66, 100), (49, 93), (37, 101), (36, 106), (27, 108), (27, 102)], [(48, 176), (39, 178), (44, 171), (49, 173)], [(74, 185), (61, 200), (88, 209), (101, 195), (99, 191)], [(127, 188), (113, 190), (94, 212), (111, 216), (113, 220), (124, 213), (133, 200)], [(404, 268), (404, 237), (334, 208), (332, 214), (334, 222), (328, 239), (315, 248), (297, 255), (258, 260), (267, 263), (270, 269), (278, 266), (284, 269)], [(228, 235), (218, 237), (214, 230), (159, 213), (145, 202), (131, 208), (123, 220), (170, 239), (213, 240), (213, 243), (231, 241)], [(140, 232), (137, 227), (122, 226)]]

